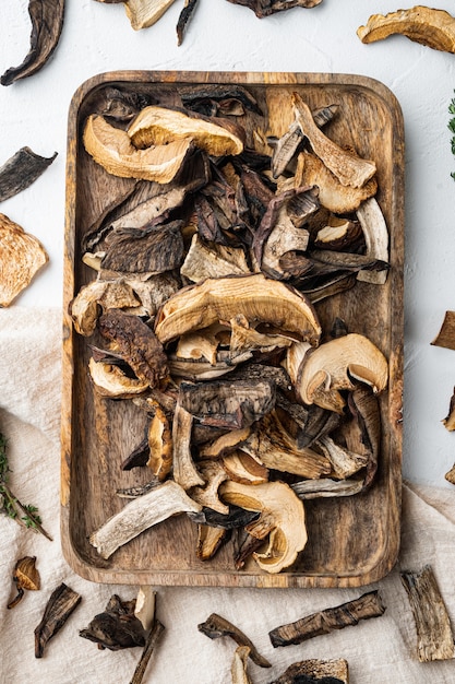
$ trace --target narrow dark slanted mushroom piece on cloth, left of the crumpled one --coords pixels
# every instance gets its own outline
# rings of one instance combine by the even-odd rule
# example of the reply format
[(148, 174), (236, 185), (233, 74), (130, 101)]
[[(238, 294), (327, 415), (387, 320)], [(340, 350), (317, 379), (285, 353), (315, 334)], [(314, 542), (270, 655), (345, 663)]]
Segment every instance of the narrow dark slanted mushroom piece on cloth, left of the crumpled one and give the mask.
[(52, 591), (35, 629), (35, 658), (43, 658), (48, 641), (64, 626), (82, 597), (64, 582)]

